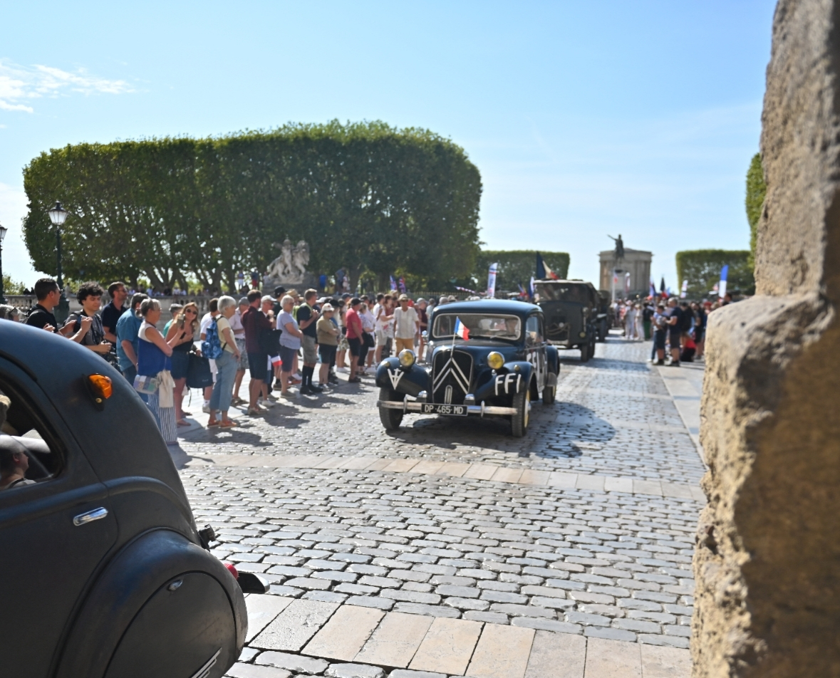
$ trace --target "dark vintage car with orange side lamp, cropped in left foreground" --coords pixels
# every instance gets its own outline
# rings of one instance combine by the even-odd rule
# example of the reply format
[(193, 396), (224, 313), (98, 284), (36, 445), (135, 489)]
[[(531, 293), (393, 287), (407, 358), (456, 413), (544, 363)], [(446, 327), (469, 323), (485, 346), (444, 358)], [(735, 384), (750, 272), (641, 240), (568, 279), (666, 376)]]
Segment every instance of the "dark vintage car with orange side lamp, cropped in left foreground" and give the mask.
[(248, 628), (243, 591), (265, 583), (238, 583), (207, 550), (212, 528), (129, 382), (0, 320), (0, 392), (0, 675), (223, 675)]

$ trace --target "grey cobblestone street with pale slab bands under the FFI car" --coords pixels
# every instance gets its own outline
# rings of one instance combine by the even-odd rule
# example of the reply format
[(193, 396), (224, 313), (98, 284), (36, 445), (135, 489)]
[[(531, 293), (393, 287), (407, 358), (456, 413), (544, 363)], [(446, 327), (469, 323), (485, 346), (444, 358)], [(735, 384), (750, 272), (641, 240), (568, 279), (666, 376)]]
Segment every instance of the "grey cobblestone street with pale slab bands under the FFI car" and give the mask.
[(271, 582), (228, 675), (688, 675), (701, 368), (664, 379), (648, 352), (561, 353), (522, 439), (418, 415), (388, 434), (372, 380), (187, 431), (214, 553)]

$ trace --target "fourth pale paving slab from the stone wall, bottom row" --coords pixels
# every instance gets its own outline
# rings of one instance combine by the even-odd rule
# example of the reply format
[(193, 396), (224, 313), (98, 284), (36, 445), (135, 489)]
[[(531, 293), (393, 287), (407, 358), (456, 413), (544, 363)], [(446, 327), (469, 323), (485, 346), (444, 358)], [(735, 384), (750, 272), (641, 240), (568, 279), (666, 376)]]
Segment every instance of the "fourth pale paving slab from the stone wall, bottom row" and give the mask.
[(475, 678), (522, 678), (528, 666), (534, 631), (530, 628), (485, 624), (467, 675)]

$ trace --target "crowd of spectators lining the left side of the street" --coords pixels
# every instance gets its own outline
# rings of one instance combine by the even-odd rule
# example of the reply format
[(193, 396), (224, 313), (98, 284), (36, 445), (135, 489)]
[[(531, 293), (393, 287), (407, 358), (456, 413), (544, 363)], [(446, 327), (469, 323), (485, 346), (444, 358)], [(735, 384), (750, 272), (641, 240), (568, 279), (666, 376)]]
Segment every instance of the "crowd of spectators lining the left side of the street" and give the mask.
[[(423, 333), (434, 305), (396, 292), (319, 297), (316, 290), (301, 295), (280, 286), (273, 295), (255, 289), (239, 300), (213, 298), (202, 318), (196, 302), (171, 302), (171, 319), (159, 328), (158, 299), (143, 292), (129, 299), (121, 281), (108, 286), (110, 301), (102, 307), (104, 294), (98, 283), (82, 283), (76, 293), (81, 310), (59, 323), (54, 312), (60, 288), (42, 278), (34, 286), (37, 303), (25, 318), (13, 307), (0, 307), (0, 313), (108, 360), (147, 403), (167, 444), (177, 442), (178, 427), (192, 425), (183, 403), (194, 361), (206, 361), (212, 377), (202, 392), (207, 426), (231, 428), (237, 425), (231, 407), (256, 417), (278, 398), (318, 397), (334, 389), (338, 372), (348, 383), (360, 383), (391, 353), (412, 349), (423, 360)], [(446, 302), (441, 297), (438, 303)], [(247, 400), (239, 395), (245, 372)]]

